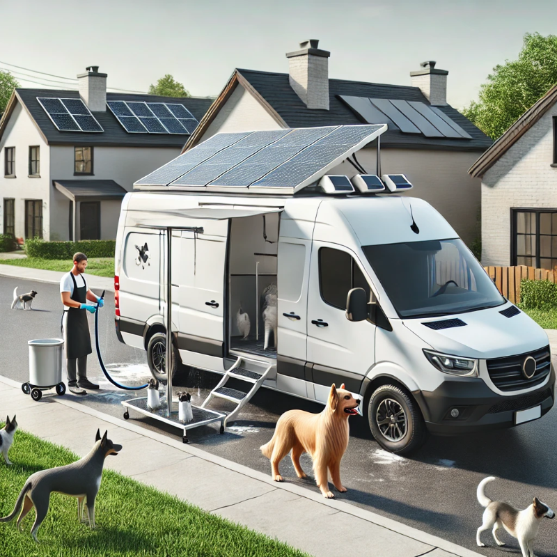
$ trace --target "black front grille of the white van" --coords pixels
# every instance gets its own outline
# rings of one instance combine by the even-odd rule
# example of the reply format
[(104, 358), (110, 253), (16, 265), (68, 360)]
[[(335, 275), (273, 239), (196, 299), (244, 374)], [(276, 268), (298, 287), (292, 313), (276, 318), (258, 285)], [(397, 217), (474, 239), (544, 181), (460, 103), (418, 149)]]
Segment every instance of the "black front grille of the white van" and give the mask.
[[(532, 356), (536, 364), (531, 379), (528, 379), (522, 373), (522, 364), (528, 356)], [(544, 382), (549, 372), (551, 372), (549, 345), (534, 352), (526, 352), (526, 354), (487, 360), (487, 371), (493, 384), (501, 391), (519, 391), (539, 385)]]

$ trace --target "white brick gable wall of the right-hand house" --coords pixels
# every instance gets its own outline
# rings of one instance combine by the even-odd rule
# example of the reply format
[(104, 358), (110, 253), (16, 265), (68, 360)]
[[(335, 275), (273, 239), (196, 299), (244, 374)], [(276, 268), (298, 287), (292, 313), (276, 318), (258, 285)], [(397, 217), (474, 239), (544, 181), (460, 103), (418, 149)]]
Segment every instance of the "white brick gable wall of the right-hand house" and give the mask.
[(554, 116), (555, 105), (483, 176), (483, 265), (511, 264), (511, 208), (557, 210), (557, 168), (551, 167)]

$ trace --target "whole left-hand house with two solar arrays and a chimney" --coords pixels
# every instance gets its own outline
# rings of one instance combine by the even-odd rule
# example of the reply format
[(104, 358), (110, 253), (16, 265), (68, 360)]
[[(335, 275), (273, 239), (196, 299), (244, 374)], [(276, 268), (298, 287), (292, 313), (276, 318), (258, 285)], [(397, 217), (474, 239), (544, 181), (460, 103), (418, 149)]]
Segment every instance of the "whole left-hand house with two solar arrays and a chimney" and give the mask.
[(107, 93), (96, 66), (77, 77), (79, 91), (17, 88), (0, 120), (2, 232), (20, 242), (115, 238), (123, 196), (212, 102)]

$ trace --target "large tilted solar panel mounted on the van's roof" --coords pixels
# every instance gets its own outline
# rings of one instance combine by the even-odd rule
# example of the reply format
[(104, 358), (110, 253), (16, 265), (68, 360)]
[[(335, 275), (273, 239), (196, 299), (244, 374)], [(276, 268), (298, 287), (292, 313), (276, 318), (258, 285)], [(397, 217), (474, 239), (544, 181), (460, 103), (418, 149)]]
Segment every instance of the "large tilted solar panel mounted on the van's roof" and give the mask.
[(135, 185), (293, 192), (384, 131), (384, 125), (356, 125), (217, 134)]

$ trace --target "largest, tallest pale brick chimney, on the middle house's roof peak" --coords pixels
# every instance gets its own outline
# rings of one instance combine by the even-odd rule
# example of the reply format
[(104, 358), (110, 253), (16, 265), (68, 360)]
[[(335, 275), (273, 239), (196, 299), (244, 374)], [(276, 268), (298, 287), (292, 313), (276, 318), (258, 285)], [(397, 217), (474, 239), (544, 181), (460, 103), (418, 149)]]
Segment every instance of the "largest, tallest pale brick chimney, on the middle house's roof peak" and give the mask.
[(300, 42), (300, 50), (288, 52), (290, 86), (308, 109), (329, 110), (329, 56), (318, 49), (319, 40)]

